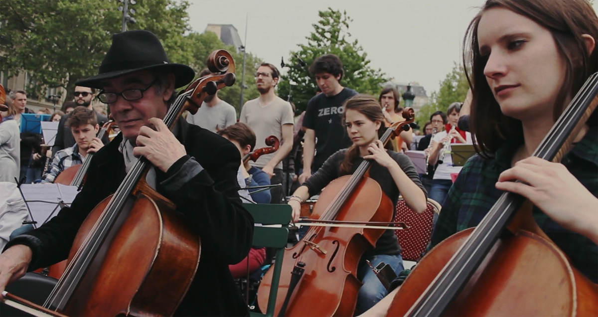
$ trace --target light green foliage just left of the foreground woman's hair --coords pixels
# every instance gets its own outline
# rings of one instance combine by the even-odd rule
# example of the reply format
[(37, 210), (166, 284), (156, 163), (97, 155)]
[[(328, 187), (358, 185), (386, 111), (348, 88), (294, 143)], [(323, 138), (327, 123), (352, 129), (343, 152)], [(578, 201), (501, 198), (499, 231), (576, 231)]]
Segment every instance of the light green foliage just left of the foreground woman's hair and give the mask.
[(454, 63), (453, 70), (440, 82), (440, 90), (433, 92), (429, 99), (430, 102), (417, 111), (417, 124), (423, 127), (423, 124), (428, 122), (430, 115), (434, 112), (439, 110), (446, 112), (451, 103), (465, 101), (468, 90), (469, 83), (465, 77), (463, 66)]

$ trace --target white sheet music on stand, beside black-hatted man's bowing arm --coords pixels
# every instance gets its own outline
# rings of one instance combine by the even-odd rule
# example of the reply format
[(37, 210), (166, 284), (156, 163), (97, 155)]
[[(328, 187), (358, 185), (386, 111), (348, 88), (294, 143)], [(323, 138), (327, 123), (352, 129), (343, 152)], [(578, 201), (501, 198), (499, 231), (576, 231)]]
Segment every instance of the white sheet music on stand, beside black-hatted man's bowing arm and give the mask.
[(76, 186), (62, 184), (22, 184), (20, 189), (33, 221), (37, 221), (36, 227), (58, 214), (61, 200), (71, 205), (78, 194)]

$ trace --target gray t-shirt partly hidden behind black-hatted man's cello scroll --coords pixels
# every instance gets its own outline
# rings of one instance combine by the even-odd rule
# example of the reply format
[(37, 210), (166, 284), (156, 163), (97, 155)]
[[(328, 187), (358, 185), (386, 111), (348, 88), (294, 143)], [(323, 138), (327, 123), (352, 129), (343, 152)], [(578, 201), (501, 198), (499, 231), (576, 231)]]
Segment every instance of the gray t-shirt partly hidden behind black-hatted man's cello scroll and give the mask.
[(234, 106), (224, 100), (220, 100), (211, 107), (202, 102), (202, 106), (197, 109), (196, 114), (187, 115), (187, 122), (216, 133), (219, 129), (237, 123), (237, 111)]

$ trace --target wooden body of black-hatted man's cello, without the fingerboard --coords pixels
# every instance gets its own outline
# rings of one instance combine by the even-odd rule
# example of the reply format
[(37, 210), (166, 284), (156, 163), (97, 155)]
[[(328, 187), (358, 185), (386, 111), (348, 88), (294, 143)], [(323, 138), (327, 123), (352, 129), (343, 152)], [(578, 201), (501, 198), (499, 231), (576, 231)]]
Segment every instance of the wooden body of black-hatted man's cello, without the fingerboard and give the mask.
[[(69, 262), (102, 215), (107, 197), (81, 225)], [(171, 316), (191, 286), (200, 240), (174, 205), (139, 195), (127, 203), (103, 249), (67, 303), (69, 316)], [(135, 261), (130, 261), (135, 259)], [(126, 282), (124, 282), (126, 281)], [(118, 289), (118, 292), (115, 290)]]

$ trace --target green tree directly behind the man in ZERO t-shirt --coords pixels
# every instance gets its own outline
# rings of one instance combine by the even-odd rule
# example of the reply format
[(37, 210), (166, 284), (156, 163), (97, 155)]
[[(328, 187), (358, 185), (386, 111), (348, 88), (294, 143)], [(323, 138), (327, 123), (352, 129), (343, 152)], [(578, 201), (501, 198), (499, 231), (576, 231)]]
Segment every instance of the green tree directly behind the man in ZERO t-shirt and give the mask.
[[(297, 106), (297, 113), (305, 110), (307, 102), (316, 94), (317, 84), (309, 74), (307, 67), (324, 54), (335, 54), (343, 62), (344, 75), (341, 84), (360, 93), (376, 94), (380, 86), (389, 79), (380, 69), (373, 69), (363, 47), (357, 39), (350, 41), (349, 22), (352, 19), (346, 11), (342, 13), (328, 8), (319, 11), (320, 20), (313, 25), (314, 31), (306, 36), (307, 45), (297, 44), (297, 51), (291, 51), (288, 73), (283, 75), (279, 83), (279, 96), (287, 99), (289, 89), (292, 102)], [(304, 60), (306, 66), (300, 65), (298, 58)], [(294, 83), (289, 85), (289, 81)]]

